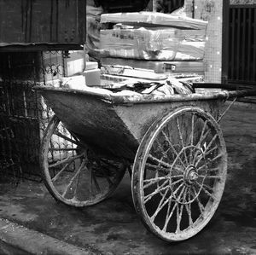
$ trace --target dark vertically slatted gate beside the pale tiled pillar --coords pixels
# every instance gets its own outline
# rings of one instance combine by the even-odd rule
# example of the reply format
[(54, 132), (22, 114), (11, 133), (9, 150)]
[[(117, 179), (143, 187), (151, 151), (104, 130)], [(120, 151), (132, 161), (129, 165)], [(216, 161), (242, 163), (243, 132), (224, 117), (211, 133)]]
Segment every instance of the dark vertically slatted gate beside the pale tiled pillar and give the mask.
[[(225, 14), (229, 18), (225, 19)], [(226, 21), (225, 21), (226, 20)], [(224, 82), (256, 86), (256, 5), (224, 8)]]

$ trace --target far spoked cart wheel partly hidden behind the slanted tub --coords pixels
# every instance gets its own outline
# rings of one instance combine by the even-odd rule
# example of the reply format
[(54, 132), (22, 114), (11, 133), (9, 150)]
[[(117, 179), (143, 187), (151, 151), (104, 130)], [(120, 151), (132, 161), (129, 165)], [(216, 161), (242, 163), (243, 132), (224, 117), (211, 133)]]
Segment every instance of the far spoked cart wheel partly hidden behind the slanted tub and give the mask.
[(97, 159), (56, 116), (44, 132), (40, 165), (49, 193), (56, 200), (79, 207), (108, 198), (125, 174), (125, 165)]

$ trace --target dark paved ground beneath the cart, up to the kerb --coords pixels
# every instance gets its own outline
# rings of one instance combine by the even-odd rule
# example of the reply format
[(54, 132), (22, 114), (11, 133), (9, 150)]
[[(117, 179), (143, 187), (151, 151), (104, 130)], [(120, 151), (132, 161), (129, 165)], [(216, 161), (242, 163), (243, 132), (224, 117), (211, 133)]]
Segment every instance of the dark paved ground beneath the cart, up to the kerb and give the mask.
[[(256, 254), (255, 113), (255, 106), (239, 104), (224, 118), (224, 196), (212, 221), (189, 241), (169, 244), (148, 233), (133, 209), (128, 176), (111, 199), (86, 209), (57, 203), (40, 183), (1, 184), (0, 217), (96, 254)], [(13, 249), (8, 253), (0, 242), (0, 253), (26, 254)]]

